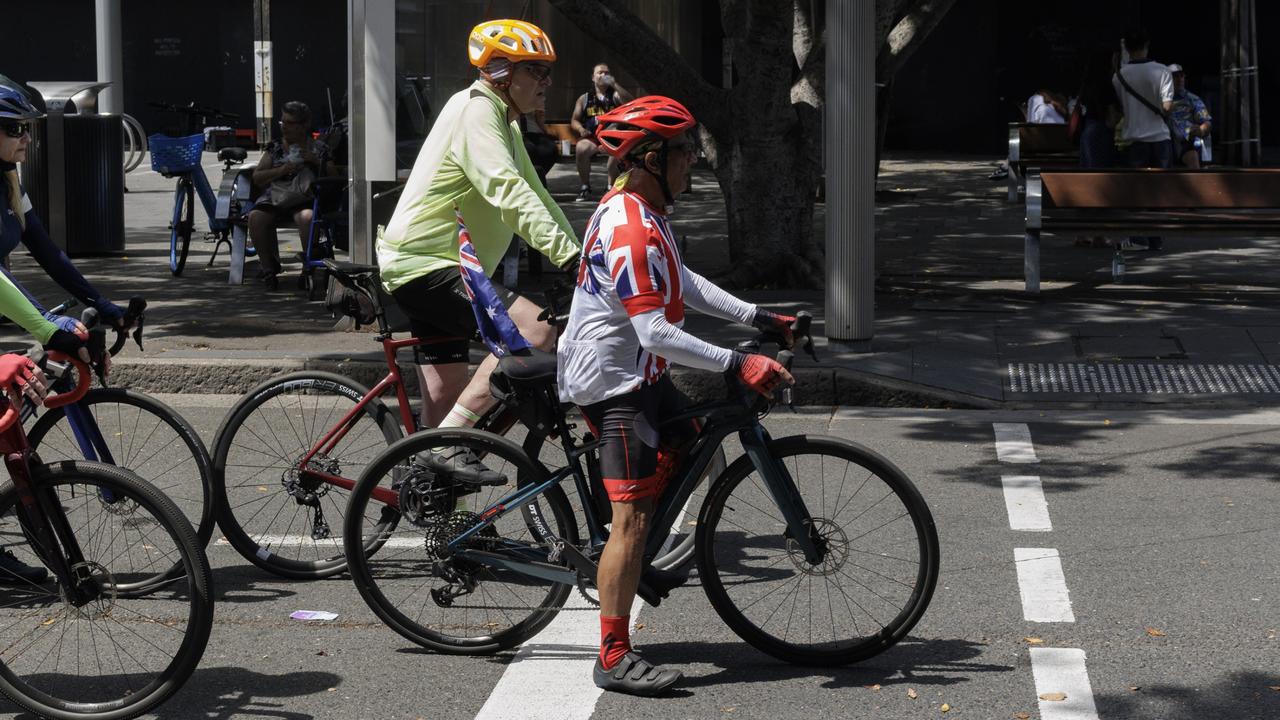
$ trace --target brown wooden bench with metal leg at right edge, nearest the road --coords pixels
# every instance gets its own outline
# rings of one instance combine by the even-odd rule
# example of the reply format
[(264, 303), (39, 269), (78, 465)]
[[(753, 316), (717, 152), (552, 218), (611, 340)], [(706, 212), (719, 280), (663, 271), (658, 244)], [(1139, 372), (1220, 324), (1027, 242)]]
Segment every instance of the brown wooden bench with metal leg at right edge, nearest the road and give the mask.
[(1050, 234), (1280, 236), (1280, 168), (1064, 169), (1027, 177), (1023, 272), (1038, 293)]

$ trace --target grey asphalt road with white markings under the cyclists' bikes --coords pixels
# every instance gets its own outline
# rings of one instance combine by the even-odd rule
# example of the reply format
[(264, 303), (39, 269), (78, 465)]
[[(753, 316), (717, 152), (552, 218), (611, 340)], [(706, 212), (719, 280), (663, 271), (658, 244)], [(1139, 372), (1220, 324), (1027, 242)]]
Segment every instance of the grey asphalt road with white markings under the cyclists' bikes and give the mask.
[[(233, 398), (165, 400), (212, 445)], [(593, 610), (558, 620), (556, 638), (582, 642), (435, 655), (384, 628), (346, 577), (280, 580), (215, 542), (209, 650), (150, 717), (1280, 717), (1280, 415), (812, 410), (767, 427), (876, 448), (932, 507), (933, 602), (873, 660), (774, 661), (694, 580), (635, 618), (645, 655), (685, 671), (678, 691), (596, 696)], [(1068, 618), (1029, 619), (1053, 609)], [(296, 610), (339, 616), (300, 623)]]

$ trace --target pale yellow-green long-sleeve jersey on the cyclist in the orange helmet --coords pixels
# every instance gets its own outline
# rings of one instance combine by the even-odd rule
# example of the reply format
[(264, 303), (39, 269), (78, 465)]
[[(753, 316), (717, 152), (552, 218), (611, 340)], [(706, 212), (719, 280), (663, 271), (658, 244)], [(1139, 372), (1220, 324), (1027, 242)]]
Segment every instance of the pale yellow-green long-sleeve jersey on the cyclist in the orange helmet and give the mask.
[(580, 251), (568, 219), (538, 179), (520, 126), (480, 81), (440, 110), (396, 213), (379, 228), (378, 265), (388, 292), (458, 265), (454, 206), (485, 273), (493, 274), (513, 232), (557, 265)]

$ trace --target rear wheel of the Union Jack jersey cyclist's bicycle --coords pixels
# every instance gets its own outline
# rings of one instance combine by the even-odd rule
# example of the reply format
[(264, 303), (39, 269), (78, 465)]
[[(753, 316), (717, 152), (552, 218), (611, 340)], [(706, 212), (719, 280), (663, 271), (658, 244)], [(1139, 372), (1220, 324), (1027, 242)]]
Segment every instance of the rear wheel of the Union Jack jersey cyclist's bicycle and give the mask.
[[(445, 447), (484, 457), (507, 483), (460, 486), (421, 462)], [(457, 557), (448, 543), (517, 484), (545, 478), (547, 470), (518, 446), (475, 429), (424, 430), (387, 448), (365, 469), (347, 507), (347, 561), (361, 597), (389, 628), (438, 652), (493, 653), (535, 635), (572, 585)], [(559, 486), (520, 510), (500, 515), (465, 547), (552, 564), (554, 541), (577, 544)]]

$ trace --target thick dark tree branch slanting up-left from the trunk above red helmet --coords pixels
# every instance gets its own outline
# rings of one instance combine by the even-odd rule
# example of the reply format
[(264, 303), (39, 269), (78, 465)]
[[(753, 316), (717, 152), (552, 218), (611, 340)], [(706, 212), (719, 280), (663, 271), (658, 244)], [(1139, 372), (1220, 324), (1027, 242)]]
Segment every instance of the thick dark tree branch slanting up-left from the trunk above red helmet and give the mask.
[(676, 50), (620, 0), (550, 0), (582, 32), (605, 45), (654, 92), (680, 100), (709, 128), (731, 122), (727, 92), (701, 78)]

